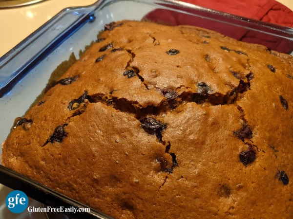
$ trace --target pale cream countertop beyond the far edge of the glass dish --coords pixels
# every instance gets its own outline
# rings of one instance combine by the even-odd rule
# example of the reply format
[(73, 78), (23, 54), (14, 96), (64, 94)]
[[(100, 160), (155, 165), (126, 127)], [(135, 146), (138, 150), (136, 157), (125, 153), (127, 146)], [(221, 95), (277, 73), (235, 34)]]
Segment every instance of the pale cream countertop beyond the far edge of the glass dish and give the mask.
[[(29, 6), (0, 9), (0, 57), (63, 8), (90, 5), (97, 0), (45, 0)], [(293, 0), (277, 0), (293, 10)]]

